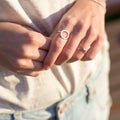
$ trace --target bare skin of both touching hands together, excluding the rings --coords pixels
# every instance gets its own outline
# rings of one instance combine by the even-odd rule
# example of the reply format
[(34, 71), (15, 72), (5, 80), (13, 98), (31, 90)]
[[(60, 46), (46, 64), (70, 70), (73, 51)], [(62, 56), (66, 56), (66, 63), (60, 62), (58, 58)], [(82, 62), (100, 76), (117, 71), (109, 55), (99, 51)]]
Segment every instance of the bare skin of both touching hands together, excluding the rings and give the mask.
[[(104, 17), (105, 9), (100, 5), (77, 0), (49, 38), (26, 26), (0, 22), (0, 66), (35, 77), (54, 64), (92, 60), (104, 42)], [(60, 37), (58, 31), (63, 29), (70, 32), (68, 40)]]

